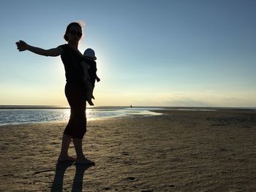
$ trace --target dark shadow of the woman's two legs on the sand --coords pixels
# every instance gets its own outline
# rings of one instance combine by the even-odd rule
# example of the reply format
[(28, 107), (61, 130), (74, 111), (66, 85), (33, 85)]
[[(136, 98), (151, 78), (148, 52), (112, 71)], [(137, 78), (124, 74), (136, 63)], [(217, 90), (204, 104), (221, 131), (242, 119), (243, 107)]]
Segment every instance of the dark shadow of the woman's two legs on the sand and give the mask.
[(69, 166), (75, 165), (75, 177), (72, 185), (72, 191), (82, 191), (83, 189), (83, 175), (86, 169), (91, 165), (89, 164), (73, 164), (72, 162), (58, 162), (56, 164), (56, 173), (51, 187), (51, 192), (59, 192), (63, 189), (64, 173)]

